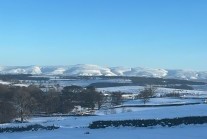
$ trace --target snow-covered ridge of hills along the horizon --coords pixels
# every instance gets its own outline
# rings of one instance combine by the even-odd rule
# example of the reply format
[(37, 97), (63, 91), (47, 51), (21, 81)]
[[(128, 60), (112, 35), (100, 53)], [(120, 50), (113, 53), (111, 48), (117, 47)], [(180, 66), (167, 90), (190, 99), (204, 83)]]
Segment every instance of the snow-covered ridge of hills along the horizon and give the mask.
[(137, 76), (173, 79), (206, 80), (207, 71), (167, 70), (152, 68), (101, 67), (79, 64), (73, 66), (0, 66), (0, 74), (33, 74), (65, 76)]

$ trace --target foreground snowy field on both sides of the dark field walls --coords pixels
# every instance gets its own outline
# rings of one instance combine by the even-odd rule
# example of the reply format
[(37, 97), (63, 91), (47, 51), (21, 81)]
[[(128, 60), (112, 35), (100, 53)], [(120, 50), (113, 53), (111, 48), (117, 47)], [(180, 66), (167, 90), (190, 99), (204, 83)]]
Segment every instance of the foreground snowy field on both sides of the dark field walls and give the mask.
[[(181, 125), (178, 127), (121, 127), (106, 129), (88, 129), (87, 126), (97, 120), (126, 120), (126, 119), (163, 119), (185, 116), (206, 116), (207, 104), (156, 107), (156, 108), (117, 108), (117, 113), (90, 117), (36, 117), (29, 119), (26, 124), (3, 124), (0, 127), (24, 126), (31, 124), (56, 125), (60, 129), (54, 131), (36, 131), (23, 133), (1, 133), (0, 139), (206, 139), (207, 125)], [(125, 109), (125, 110), (126, 110)], [(90, 134), (85, 134), (89, 132)]]

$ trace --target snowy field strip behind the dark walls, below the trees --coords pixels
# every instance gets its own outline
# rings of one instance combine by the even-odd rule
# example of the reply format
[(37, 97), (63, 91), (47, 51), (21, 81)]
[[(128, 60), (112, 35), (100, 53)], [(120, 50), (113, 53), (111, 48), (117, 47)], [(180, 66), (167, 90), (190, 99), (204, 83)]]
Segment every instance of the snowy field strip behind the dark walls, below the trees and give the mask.
[(172, 107), (144, 107), (144, 108), (116, 108), (97, 112), (98, 116), (83, 117), (36, 117), (29, 119), (29, 123), (1, 124), (0, 127), (21, 126), (28, 124), (57, 125), (61, 127), (87, 127), (97, 120), (127, 120), (127, 119), (163, 119), (186, 116), (207, 116), (207, 104), (185, 105)]

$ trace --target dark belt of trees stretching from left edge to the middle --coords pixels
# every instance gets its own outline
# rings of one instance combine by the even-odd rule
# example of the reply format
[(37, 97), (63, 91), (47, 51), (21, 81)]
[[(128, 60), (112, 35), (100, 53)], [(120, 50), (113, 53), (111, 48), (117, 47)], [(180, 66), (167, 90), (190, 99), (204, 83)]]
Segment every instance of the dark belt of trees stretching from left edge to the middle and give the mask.
[(32, 114), (69, 113), (76, 105), (94, 109), (97, 104), (100, 108), (102, 100), (102, 93), (93, 87), (68, 86), (62, 92), (43, 92), (35, 86), (0, 85), (0, 123), (14, 118), (23, 122)]

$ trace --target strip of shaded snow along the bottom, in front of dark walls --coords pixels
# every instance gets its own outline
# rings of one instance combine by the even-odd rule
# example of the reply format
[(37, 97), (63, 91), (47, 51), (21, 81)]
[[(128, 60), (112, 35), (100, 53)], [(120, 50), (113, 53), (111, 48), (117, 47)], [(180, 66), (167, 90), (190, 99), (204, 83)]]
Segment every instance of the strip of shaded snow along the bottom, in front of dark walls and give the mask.
[[(206, 139), (207, 125), (175, 128), (61, 128), (54, 131), (0, 134), (1, 139)], [(89, 132), (90, 134), (85, 134)]]

